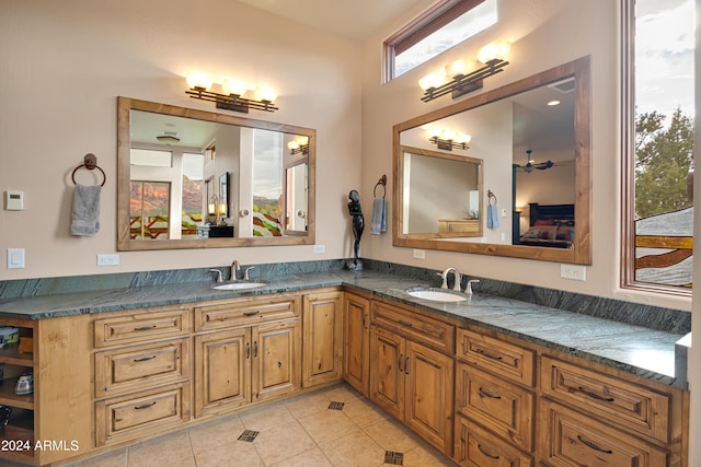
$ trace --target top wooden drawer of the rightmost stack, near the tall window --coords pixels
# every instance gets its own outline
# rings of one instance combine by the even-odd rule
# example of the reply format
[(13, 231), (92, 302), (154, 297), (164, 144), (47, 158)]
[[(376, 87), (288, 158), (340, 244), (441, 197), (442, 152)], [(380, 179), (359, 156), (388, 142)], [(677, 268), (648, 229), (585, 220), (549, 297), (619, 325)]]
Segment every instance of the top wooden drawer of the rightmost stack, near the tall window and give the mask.
[(542, 357), (544, 395), (668, 442), (669, 396)]

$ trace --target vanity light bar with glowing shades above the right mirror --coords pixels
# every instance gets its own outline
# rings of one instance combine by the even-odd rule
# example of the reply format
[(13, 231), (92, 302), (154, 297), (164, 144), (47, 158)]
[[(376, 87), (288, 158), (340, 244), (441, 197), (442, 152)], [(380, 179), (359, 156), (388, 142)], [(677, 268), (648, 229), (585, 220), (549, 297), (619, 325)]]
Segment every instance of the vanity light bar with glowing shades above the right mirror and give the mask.
[(506, 56), (509, 50), (508, 42), (494, 42), (478, 51), (476, 59), (484, 66), (474, 71), (468, 72), (468, 61), (457, 60), (446, 67), (446, 70), (425, 75), (418, 80), (418, 85), (424, 90), (421, 100), (429, 102), (448, 93), (452, 93), (452, 98), (457, 98), (482, 89), (485, 78), (504, 71), (504, 67), (508, 65)]

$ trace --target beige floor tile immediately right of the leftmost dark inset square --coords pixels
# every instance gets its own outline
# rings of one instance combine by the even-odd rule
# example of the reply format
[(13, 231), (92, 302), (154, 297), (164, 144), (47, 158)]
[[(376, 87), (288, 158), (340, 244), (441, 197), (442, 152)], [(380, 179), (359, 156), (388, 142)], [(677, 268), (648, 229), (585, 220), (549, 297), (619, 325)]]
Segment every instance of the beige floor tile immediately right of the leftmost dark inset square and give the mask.
[(296, 420), (261, 432), (253, 445), (265, 465), (279, 463), (317, 446)]

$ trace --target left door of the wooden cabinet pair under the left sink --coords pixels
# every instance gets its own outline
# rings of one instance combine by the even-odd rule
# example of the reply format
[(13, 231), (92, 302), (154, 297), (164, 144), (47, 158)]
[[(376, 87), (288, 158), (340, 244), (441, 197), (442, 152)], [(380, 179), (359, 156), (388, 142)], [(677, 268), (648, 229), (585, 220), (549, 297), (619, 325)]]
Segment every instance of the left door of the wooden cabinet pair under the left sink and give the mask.
[(195, 417), (251, 401), (250, 328), (195, 337)]

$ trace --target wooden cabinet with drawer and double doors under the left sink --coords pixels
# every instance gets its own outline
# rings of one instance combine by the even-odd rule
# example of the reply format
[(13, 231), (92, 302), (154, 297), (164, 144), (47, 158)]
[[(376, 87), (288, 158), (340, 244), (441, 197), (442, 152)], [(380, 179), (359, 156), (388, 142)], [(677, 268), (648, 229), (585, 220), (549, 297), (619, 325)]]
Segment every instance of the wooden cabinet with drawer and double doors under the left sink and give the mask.
[[(195, 417), (228, 412), (300, 388), (299, 299), (205, 304), (195, 308)], [(281, 319), (280, 319), (281, 317)]]

